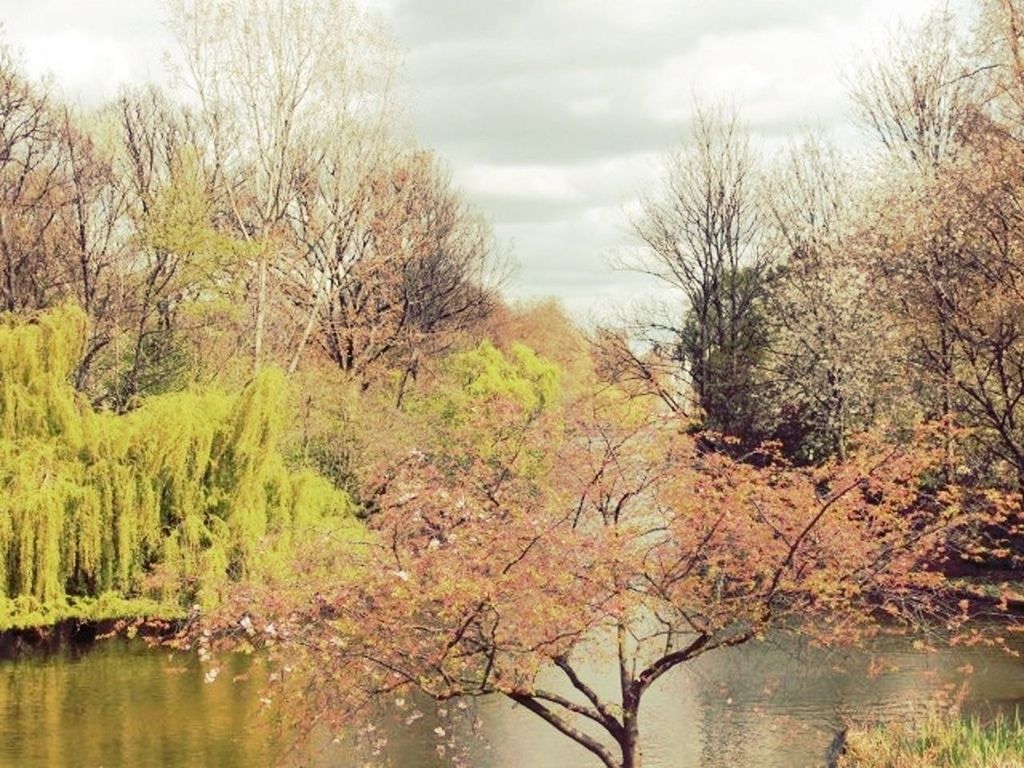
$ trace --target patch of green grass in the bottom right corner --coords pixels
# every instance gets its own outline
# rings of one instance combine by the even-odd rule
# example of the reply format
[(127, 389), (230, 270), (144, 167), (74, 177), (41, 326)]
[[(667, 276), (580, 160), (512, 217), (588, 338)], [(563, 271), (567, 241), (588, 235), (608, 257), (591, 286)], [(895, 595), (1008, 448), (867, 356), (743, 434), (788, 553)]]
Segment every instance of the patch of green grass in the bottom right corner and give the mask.
[(931, 719), (851, 730), (843, 768), (1024, 768), (1020, 716), (982, 724), (977, 719)]

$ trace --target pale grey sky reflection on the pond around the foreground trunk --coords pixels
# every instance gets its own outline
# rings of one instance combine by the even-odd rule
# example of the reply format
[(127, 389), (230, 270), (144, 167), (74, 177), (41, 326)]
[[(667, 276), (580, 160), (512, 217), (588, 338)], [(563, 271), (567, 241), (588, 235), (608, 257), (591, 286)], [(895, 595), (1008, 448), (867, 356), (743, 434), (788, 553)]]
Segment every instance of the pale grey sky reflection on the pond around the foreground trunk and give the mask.
[[(611, 675), (602, 682), (610, 693)], [(1024, 705), (1024, 664), (984, 648), (922, 652), (901, 638), (883, 639), (870, 651), (794, 641), (723, 650), (678, 669), (650, 691), (641, 711), (644, 764), (821, 766), (844, 724), (923, 713), (940, 695), (962, 697), (967, 713), (1013, 714)], [(493, 701), (481, 713), (492, 750), (474, 752), (474, 766), (596, 765), (527, 712)]]

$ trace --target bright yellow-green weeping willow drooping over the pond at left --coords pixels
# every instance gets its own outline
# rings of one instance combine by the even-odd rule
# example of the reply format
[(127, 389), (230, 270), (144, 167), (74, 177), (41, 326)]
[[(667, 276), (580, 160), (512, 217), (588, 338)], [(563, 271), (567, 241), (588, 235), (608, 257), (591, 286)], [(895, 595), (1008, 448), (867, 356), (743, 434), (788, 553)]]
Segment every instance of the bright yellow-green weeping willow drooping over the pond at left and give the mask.
[(209, 603), (350, 524), (348, 497), (282, 458), (280, 373), (96, 413), (70, 384), (85, 338), (73, 306), (0, 321), (0, 598)]

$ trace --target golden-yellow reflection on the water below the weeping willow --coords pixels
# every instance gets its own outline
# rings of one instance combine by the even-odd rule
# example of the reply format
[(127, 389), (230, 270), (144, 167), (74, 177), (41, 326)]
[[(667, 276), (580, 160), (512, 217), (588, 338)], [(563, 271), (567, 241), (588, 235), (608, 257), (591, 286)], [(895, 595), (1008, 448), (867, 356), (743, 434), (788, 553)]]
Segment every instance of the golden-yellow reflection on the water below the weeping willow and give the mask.
[(191, 659), (120, 642), (2, 662), (0, 765), (268, 765), (270, 723), (250, 736), (259, 696), (246, 671), (231, 659), (227, 680), (206, 685)]

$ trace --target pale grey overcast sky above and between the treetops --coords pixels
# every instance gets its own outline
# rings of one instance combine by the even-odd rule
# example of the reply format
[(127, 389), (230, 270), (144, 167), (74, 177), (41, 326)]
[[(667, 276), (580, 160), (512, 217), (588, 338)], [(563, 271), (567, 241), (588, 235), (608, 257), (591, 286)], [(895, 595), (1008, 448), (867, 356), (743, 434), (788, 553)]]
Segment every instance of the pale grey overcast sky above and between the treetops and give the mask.
[[(685, 134), (734, 103), (771, 150), (802, 129), (856, 141), (844, 75), (931, 0), (367, 0), (406, 52), (410, 120), (510, 242), (509, 293), (581, 319), (645, 290), (608, 257)], [(93, 102), (163, 78), (161, 0), (0, 0), (33, 74)]]

